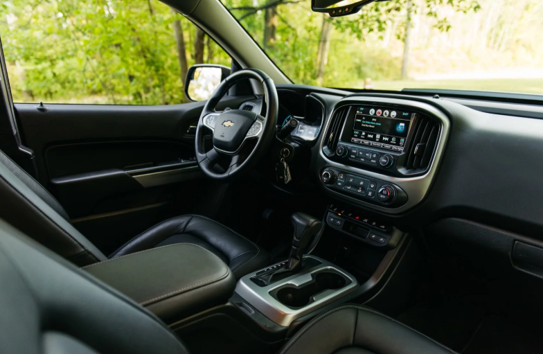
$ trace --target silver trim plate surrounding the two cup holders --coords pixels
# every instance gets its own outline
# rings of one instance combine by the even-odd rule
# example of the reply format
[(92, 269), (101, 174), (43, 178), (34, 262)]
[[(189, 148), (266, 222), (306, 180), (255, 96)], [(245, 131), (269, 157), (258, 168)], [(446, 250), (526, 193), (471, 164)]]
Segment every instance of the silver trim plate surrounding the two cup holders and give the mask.
[[(238, 284), (235, 286), (235, 292), (237, 292), (240, 297), (247, 301), (251, 306), (262, 312), (266, 317), (274, 321), (276, 324), (281, 326), (289, 326), (295, 319), (326, 306), (328, 303), (331, 303), (339, 297), (343, 297), (344, 295), (354, 291), (359, 286), (354, 276), (344, 271), (340, 267), (333, 265), (327, 260), (323, 260), (322, 258), (316, 256), (307, 255), (303, 258), (314, 258), (319, 260), (322, 264), (306, 269), (303, 272), (294, 274), (293, 276), (265, 287), (260, 287), (251, 281), (251, 277), (255, 276), (257, 273), (253, 272), (243, 276), (238, 281)], [(310, 303), (308, 306), (298, 309), (292, 309), (283, 305), (283, 303), (280, 303), (278, 300), (272, 297), (271, 294), (269, 294), (272, 292), (272, 290), (287, 284), (299, 286), (308, 283), (312, 281), (312, 274), (321, 272), (323, 269), (332, 269), (335, 272), (339, 272), (340, 274), (346, 276), (351, 283), (338, 290), (326, 290), (320, 294), (316, 294), (313, 297), (314, 302)]]

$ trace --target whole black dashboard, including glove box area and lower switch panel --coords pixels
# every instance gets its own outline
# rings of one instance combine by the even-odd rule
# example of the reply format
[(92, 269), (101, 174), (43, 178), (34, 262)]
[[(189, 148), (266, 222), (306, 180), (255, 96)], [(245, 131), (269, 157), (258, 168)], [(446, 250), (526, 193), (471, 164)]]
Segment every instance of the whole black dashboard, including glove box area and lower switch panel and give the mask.
[(543, 249), (541, 98), (277, 89), (283, 119), (305, 119), (311, 96), (319, 114), (308, 121), (320, 129), (281, 145), (307, 149), (288, 161), (294, 182), (276, 187), (301, 203), (320, 198), (335, 235), (390, 248), (396, 232), (413, 233), (468, 274), (530, 272), (514, 247)]

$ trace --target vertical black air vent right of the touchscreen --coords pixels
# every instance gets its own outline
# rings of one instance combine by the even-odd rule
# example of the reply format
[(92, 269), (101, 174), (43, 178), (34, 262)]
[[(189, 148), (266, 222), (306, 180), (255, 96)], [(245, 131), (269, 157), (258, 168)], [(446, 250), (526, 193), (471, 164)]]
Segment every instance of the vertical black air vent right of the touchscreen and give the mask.
[(439, 123), (418, 116), (413, 127), (405, 168), (411, 171), (426, 170), (434, 154), (439, 135)]

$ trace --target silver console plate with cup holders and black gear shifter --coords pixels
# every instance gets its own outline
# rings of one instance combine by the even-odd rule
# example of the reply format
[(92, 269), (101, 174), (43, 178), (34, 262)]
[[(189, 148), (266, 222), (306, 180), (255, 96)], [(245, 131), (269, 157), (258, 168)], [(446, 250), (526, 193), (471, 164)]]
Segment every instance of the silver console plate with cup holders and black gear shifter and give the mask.
[(322, 223), (304, 213), (292, 215), (294, 237), (288, 260), (243, 276), (235, 292), (280, 326), (343, 297), (358, 287), (344, 269), (316, 256), (303, 256)]

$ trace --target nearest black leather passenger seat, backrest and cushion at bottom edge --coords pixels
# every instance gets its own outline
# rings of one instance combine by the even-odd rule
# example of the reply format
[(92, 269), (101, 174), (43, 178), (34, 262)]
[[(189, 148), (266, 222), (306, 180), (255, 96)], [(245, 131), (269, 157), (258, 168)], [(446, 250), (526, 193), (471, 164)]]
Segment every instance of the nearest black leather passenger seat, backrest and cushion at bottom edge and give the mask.
[[(150, 312), (0, 220), (2, 353), (188, 354)], [(213, 340), (213, 337), (206, 338)], [(363, 306), (341, 306), (278, 354), (454, 354)]]

